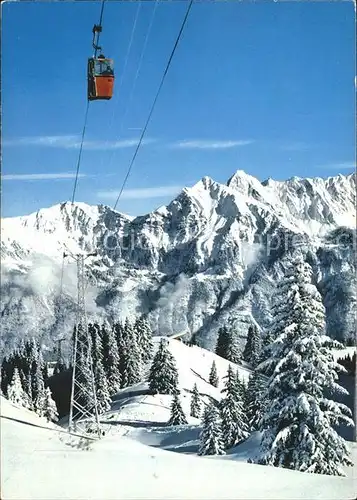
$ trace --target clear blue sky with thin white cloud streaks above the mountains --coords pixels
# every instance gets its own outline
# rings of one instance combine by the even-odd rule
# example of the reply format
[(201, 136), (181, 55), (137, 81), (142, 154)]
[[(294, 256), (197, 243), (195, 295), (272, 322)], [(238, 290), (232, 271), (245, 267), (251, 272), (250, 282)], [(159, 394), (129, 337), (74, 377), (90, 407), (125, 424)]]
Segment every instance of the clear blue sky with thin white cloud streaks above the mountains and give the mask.
[[(186, 8), (106, 2), (115, 91), (90, 103), (76, 201), (114, 205)], [(96, 1), (2, 4), (2, 216), (71, 199), (99, 12)], [(194, 3), (117, 209), (146, 213), (238, 169), (352, 172), (354, 23), (352, 2)]]

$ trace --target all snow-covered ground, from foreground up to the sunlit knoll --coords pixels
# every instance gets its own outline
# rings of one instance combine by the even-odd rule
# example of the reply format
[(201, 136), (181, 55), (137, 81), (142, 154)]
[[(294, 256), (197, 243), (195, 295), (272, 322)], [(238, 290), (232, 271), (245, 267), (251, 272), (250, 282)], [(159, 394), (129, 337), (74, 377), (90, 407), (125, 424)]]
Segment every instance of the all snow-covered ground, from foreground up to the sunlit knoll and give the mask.
[[(205, 402), (220, 399), (228, 361), (178, 340), (168, 342), (186, 415), (194, 383)], [(213, 360), (220, 377), (218, 389), (207, 382)], [(247, 380), (248, 368), (232, 366)], [(145, 383), (120, 391), (102, 419), (106, 436), (89, 450), (81, 450), (66, 444), (65, 429), (1, 397), (2, 500), (347, 500), (356, 496), (356, 466), (346, 470), (348, 477), (340, 478), (246, 463), (259, 445), (257, 433), (225, 456), (198, 457), (200, 422), (189, 418), (188, 425), (167, 426), (171, 400), (167, 395), (149, 395)], [(357, 463), (356, 443), (353, 454)]]

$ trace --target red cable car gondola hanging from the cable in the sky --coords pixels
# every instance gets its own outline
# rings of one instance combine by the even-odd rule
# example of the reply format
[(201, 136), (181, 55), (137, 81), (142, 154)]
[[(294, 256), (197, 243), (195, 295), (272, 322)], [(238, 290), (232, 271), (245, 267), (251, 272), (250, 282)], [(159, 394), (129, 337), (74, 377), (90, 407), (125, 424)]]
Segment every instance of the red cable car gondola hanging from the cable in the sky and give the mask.
[[(101, 47), (97, 45), (99, 34), (102, 31), (101, 25), (93, 26), (93, 48), (94, 56), (88, 59), (88, 100), (108, 100), (113, 96), (114, 87), (114, 61), (107, 59), (103, 54), (96, 57), (97, 50)], [(96, 40), (97, 38), (97, 40)]]

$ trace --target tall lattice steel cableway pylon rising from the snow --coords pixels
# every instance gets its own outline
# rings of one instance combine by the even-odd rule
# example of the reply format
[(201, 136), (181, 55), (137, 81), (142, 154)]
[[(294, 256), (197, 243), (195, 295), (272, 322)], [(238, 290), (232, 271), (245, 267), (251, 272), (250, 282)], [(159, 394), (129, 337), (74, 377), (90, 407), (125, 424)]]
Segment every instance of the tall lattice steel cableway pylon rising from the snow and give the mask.
[[(66, 257), (68, 254), (64, 254)], [(71, 254), (70, 254), (71, 255)], [(72, 255), (77, 261), (77, 320), (73, 339), (73, 372), (68, 431), (101, 436), (93, 370), (92, 341), (85, 308), (84, 261), (96, 253)]]

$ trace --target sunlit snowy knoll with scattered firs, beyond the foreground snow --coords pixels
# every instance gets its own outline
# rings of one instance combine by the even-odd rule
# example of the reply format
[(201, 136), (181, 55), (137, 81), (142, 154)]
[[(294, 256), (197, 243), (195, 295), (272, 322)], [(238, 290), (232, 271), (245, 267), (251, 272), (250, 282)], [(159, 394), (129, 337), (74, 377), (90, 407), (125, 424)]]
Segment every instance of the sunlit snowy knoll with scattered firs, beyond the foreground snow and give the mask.
[[(159, 342), (160, 338), (154, 337), (155, 350), (158, 348)], [(167, 426), (172, 396), (151, 395), (146, 382), (119, 391), (113, 398), (111, 410), (102, 417), (101, 421), (104, 426), (111, 426), (112, 435), (119, 433), (150, 446), (158, 446), (179, 453), (197, 454), (201, 423), (199, 419), (190, 416), (190, 401), (194, 384), (197, 385), (202, 403), (201, 409), (203, 410), (204, 405), (212, 400), (215, 402), (221, 400), (221, 390), (224, 387), (223, 377), (227, 374), (229, 365), (234, 371), (238, 371), (239, 377), (244, 383), (248, 382), (250, 369), (244, 362), (242, 365), (229, 363), (213, 352), (197, 346), (187, 346), (175, 339), (167, 339), (167, 345), (178, 370), (180, 400), (188, 425), (174, 428)], [(353, 354), (352, 348), (349, 348), (348, 352)], [(335, 356), (338, 358), (337, 351)], [(208, 381), (213, 361), (216, 364), (219, 378), (217, 388)], [(350, 387), (346, 387), (346, 389), (350, 391), (350, 396), (342, 398), (341, 402), (347, 404), (353, 411), (353, 388), (351, 390)], [(63, 419), (62, 423), (66, 423), (66, 418)], [(340, 431), (346, 439), (352, 439), (351, 428), (346, 431), (345, 428), (341, 427)], [(252, 458), (259, 445), (258, 438), (259, 436), (252, 436), (248, 442), (229, 450), (227, 458), (238, 461)]]

